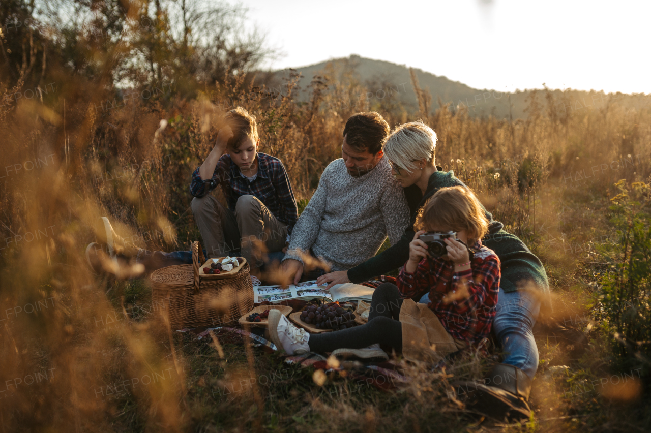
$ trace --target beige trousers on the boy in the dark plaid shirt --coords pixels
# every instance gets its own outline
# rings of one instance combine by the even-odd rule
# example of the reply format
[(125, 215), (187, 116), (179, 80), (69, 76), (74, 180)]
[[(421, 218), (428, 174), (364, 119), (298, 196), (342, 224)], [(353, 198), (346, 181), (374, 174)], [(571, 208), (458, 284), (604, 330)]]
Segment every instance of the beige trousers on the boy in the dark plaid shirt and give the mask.
[(191, 207), (208, 258), (223, 257), (240, 249), (242, 257), (255, 269), (264, 264), (262, 257), (266, 252), (280, 251), (285, 245), (287, 226), (256, 196), (240, 196), (235, 212), (212, 194), (193, 198)]

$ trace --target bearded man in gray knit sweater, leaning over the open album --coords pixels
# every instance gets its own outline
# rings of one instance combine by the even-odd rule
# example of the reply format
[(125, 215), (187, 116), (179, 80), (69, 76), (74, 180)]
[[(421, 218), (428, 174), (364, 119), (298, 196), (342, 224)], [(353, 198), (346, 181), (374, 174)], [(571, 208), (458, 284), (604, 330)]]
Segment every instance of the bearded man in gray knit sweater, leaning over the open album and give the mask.
[(295, 284), (308, 255), (347, 270), (373, 257), (387, 235), (398, 242), (409, 223), (404, 191), (382, 153), (387, 122), (377, 112), (358, 113), (343, 135), (342, 159), (328, 164), (292, 231), (283, 274)]

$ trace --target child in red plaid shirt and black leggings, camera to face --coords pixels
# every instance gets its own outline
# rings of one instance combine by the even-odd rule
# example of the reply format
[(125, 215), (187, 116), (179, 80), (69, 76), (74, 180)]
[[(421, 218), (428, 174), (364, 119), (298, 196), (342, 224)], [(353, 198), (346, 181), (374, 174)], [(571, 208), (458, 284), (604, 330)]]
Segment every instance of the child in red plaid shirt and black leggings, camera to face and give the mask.
[[(307, 334), (272, 310), (273, 343), (289, 354), (336, 351), (361, 358), (382, 357), (381, 343), (419, 361), (480, 343), (492, 326), (500, 278), (499, 258), (480, 241), (488, 231), (481, 204), (467, 188), (442, 188), (424, 205), (417, 228), (424, 230), (409, 244), (398, 285), (384, 283), (374, 291), (367, 324)], [(419, 239), (425, 230), (455, 231), (458, 241), (445, 239), (447, 254), (433, 257)], [(429, 304), (411, 299), (423, 291), (430, 293)]]

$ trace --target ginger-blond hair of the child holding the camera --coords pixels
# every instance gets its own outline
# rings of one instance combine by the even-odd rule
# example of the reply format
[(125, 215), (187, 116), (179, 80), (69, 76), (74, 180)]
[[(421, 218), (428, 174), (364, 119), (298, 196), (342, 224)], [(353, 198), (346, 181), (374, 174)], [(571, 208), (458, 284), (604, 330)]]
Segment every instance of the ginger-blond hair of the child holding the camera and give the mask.
[(447, 228), (465, 230), (475, 241), (488, 233), (486, 211), (473, 192), (464, 187), (445, 187), (427, 200), (416, 219), (417, 230)]

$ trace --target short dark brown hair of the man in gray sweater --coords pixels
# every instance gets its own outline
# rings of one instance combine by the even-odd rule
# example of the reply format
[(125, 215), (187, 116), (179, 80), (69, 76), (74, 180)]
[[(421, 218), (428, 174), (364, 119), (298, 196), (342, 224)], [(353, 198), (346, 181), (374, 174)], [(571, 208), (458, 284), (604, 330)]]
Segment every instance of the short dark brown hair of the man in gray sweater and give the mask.
[(346, 144), (354, 150), (360, 152), (368, 150), (371, 155), (376, 155), (382, 150), (382, 144), (390, 130), (389, 124), (380, 113), (358, 112), (348, 118), (344, 127), (344, 138)]

